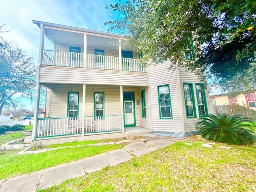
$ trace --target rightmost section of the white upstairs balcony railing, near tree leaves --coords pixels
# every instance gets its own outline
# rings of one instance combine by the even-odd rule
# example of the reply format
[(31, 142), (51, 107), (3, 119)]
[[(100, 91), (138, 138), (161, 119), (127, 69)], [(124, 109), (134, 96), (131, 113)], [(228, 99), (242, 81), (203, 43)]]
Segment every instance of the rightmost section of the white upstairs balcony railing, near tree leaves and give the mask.
[(138, 59), (122, 58), (122, 70), (147, 72), (147, 68), (142, 66)]

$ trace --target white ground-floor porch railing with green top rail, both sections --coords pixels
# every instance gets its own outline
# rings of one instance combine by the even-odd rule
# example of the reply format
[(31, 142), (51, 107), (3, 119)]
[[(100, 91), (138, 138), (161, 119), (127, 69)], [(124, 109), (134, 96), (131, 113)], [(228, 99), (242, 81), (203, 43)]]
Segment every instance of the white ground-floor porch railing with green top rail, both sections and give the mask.
[[(37, 138), (81, 134), (82, 117), (39, 118), (37, 126)], [(84, 120), (85, 134), (121, 130), (121, 115), (86, 116)]]

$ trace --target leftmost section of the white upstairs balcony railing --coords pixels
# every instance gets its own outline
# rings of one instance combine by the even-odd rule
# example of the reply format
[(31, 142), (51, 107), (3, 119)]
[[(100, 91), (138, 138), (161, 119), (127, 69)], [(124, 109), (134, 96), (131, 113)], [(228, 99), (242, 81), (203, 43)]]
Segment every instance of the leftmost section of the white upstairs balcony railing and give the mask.
[(63, 67), (84, 67), (84, 54), (44, 50), (42, 65)]

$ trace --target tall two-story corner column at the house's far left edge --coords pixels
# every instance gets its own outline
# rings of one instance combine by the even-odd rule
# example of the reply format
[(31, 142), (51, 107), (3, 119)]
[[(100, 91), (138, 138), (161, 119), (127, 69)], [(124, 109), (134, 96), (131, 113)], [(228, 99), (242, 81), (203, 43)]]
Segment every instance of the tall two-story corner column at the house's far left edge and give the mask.
[(33, 130), (32, 130), (32, 140), (36, 140), (37, 128), (38, 128), (38, 112), (39, 112), (39, 101), (40, 101), (40, 89), (41, 84), (39, 83), (39, 73), (40, 66), (42, 65), (42, 57), (44, 51), (44, 26), (40, 24), (40, 42), (39, 42), (39, 57), (38, 65), (36, 66), (36, 96), (35, 96), (35, 108), (34, 108), (34, 120), (33, 120)]

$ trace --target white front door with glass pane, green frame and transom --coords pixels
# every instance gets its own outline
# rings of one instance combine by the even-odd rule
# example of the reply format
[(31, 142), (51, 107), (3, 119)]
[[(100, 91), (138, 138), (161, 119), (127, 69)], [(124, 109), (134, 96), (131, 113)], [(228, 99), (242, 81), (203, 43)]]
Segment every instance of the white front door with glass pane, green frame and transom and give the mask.
[(135, 126), (134, 92), (124, 92), (124, 127)]

